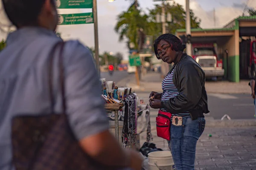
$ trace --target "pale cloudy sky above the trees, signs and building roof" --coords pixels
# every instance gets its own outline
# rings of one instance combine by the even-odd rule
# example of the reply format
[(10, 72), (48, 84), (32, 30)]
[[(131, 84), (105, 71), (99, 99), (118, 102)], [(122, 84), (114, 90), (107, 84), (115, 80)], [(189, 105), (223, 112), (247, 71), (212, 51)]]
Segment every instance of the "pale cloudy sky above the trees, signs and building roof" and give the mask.
[[(185, 5), (185, 0), (174, 0), (176, 3)], [(190, 8), (195, 15), (201, 19), (202, 28), (213, 28), (213, 9), (216, 14), (216, 27), (222, 27), (234, 18), (242, 14), (247, 0), (190, 0)], [(125, 42), (118, 41), (118, 34), (114, 31), (116, 16), (125, 11), (131, 2), (126, 0), (116, 0), (109, 3), (108, 0), (97, 0), (98, 2), (98, 25), (99, 25), (99, 45), (100, 53), (112, 51), (121, 52), (125, 58), (128, 57), (128, 49)], [(139, 0), (141, 8), (153, 8), (153, 0)], [(171, 3), (171, 1), (170, 1)], [(256, 8), (256, 0), (249, 0), (249, 7)], [(91, 9), (61, 9), (60, 14), (72, 14), (81, 12), (91, 12)], [(79, 39), (85, 45), (94, 47), (93, 24), (59, 26), (64, 40)], [(6, 35), (0, 33), (0, 38)]]

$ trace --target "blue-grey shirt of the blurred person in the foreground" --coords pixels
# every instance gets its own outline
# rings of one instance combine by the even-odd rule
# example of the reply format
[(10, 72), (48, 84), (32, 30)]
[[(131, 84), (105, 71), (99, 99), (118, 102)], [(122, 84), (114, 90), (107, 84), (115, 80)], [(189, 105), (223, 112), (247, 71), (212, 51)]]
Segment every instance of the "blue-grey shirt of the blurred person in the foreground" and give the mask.
[[(49, 59), (56, 43), (54, 32), (22, 28), (10, 33), (0, 52), (0, 170), (13, 170), (11, 121), (14, 116), (50, 113)], [(54, 51), (53, 90), (55, 111), (61, 112), (58, 55)], [(67, 114), (77, 139), (108, 130), (108, 118), (93, 57), (78, 41), (64, 46)], [(20, 130), (20, 133), (23, 133)]]

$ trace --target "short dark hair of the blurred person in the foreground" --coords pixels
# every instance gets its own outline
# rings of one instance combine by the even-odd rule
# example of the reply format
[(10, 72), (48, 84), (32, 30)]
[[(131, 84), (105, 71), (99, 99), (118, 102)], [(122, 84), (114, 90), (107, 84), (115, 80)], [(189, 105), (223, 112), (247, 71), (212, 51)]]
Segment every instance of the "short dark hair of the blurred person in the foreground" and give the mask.
[[(13, 25), (38, 26), (38, 16), (45, 0), (3, 0), (6, 15)], [(51, 3), (55, 5), (54, 0)]]

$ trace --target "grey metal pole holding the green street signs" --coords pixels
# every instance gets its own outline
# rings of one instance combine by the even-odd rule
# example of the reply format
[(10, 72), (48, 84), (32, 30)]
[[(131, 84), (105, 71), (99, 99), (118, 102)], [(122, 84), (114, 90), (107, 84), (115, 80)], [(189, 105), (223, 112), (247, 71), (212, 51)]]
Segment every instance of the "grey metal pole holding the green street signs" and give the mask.
[(94, 23), (94, 43), (95, 43), (95, 61), (96, 69), (100, 77), (99, 69), (99, 35), (98, 35), (98, 17), (97, 17), (97, 0), (93, 0), (93, 23)]

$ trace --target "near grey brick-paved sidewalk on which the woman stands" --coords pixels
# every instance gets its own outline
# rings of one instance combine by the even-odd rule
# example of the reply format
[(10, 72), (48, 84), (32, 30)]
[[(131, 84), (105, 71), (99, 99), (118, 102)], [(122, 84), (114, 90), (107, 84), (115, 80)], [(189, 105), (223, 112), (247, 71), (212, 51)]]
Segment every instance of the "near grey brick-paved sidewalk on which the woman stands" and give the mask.
[[(156, 136), (156, 130), (151, 133), (157, 148), (169, 150), (166, 140)], [(206, 127), (197, 143), (195, 170), (256, 170), (255, 134), (256, 127)], [(142, 133), (141, 146), (145, 140)]]

